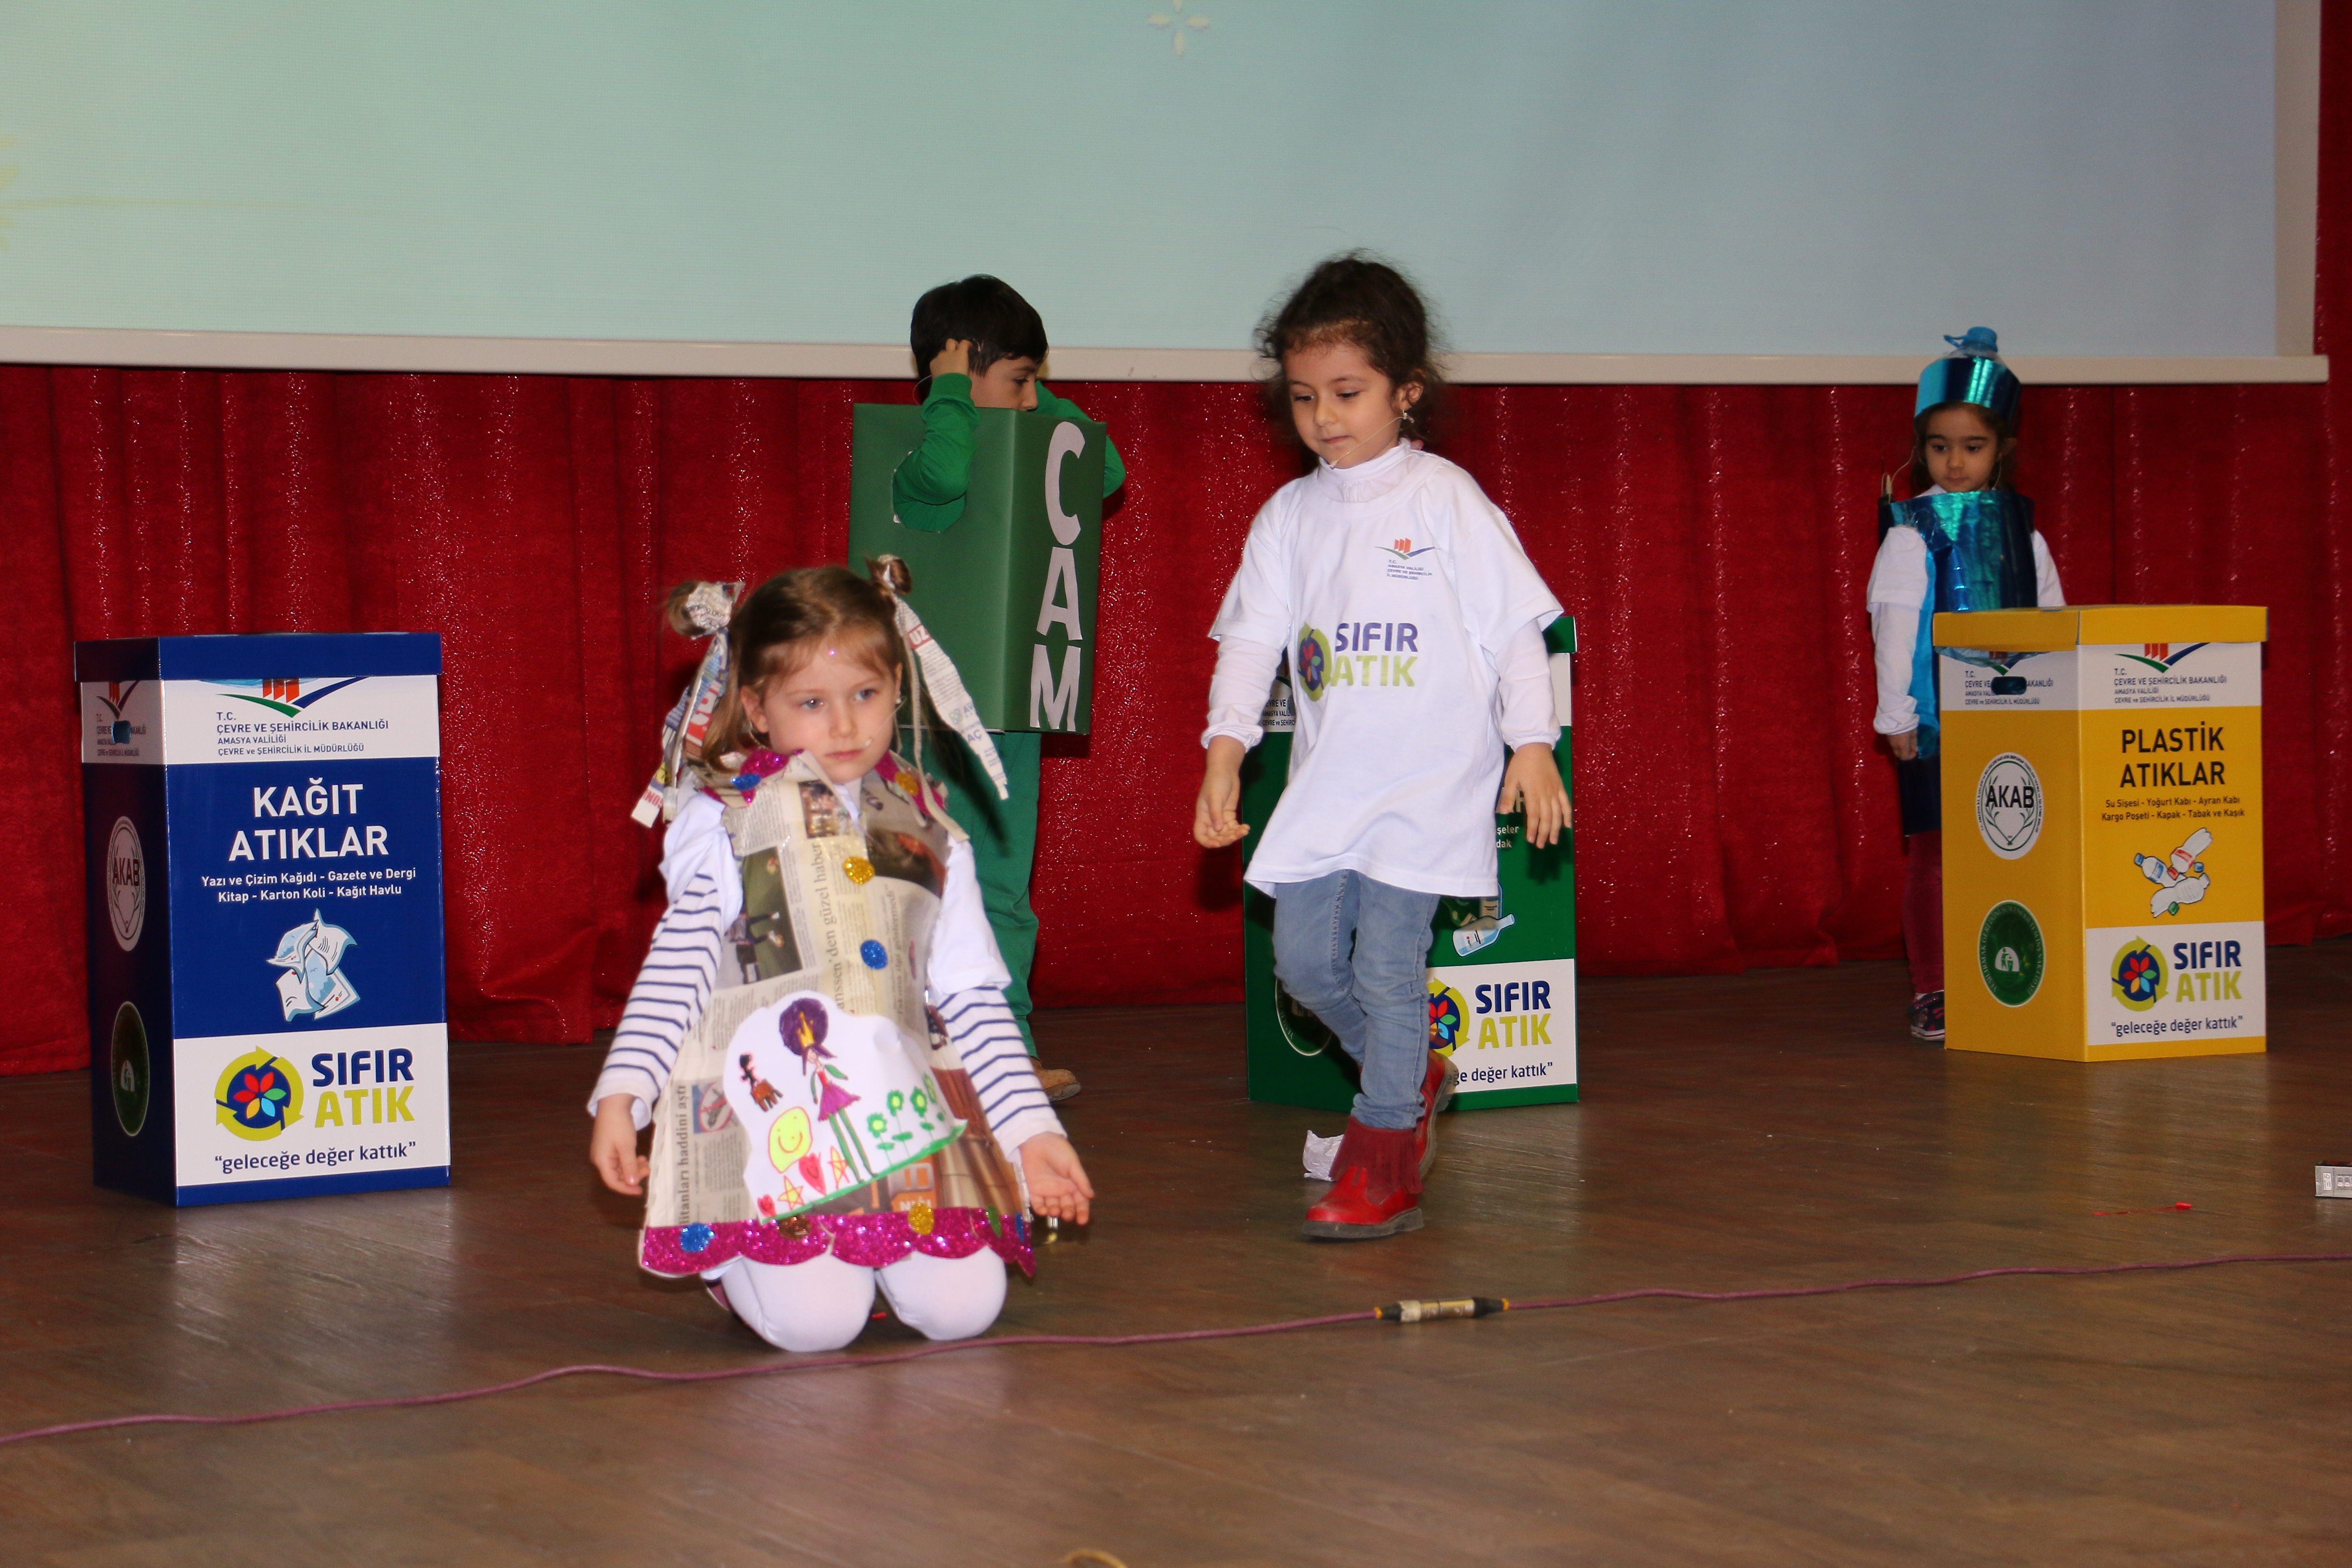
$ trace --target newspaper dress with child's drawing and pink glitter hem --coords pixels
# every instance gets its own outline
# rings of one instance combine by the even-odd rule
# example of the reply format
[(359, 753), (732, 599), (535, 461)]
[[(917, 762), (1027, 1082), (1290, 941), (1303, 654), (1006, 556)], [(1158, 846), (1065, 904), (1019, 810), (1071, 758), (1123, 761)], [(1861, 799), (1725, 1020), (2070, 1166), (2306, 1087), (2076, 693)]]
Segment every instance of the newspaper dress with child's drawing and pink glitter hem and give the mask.
[(743, 914), (654, 1105), (654, 1274), (983, 1246), (1033, 1267), (1018, 1178), (924, 1001), (964, 832), (896, 757), (856, 792), (851, 818), (809, 757), (774, 752), (717, 790)]

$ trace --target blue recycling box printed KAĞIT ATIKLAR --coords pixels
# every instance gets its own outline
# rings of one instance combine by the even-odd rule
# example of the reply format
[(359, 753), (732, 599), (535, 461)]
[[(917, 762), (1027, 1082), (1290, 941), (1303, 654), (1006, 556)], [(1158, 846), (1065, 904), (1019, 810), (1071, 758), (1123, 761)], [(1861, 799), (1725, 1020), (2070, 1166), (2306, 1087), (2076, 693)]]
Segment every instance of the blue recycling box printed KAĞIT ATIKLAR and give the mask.
[(101, 1187), (445, 1187), (440, 637), (73, 649)]

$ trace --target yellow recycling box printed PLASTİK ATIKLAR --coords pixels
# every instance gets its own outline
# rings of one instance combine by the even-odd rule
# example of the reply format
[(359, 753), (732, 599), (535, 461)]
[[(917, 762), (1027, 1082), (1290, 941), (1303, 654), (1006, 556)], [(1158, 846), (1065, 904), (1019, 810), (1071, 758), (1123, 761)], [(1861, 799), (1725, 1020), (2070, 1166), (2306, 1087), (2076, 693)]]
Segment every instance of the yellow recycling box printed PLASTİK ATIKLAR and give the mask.
[(1936, 616), (1945, 1048), (2263, 1051), (2253, 604)]

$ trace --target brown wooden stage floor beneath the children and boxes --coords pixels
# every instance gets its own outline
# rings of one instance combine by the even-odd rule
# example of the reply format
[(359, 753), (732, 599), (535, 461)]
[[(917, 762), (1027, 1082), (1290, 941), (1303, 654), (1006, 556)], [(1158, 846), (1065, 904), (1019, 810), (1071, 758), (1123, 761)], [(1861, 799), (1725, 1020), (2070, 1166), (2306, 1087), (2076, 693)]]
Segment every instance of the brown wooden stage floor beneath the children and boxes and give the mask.
[[(1049, 1013), (1103, 1199), (1000, 1331), (2352, 1251), (2310, 1187), (2352, 943), (2272, 966), (2270, 1056), (2107, 1067), (1912, 1046), (1893, 964), (1590, 983), (1588, 1103), (1449, 1117), (1430, 1227), (1362, 1246), (1296, 1237), (1336, 1117), (1242, 1100), (1237, 1009)], [(461, 1048), (449, 1192), (186, 1213), (89, 1187), (78, 1074), (0, 1081), (0, 1429), (783, 1361), (630, 1269), (595, 1063)], [(2347, 1300), (2234, 1267), (572, 1380), (0, 1448), (0, 1561), (2343, 1563)]]

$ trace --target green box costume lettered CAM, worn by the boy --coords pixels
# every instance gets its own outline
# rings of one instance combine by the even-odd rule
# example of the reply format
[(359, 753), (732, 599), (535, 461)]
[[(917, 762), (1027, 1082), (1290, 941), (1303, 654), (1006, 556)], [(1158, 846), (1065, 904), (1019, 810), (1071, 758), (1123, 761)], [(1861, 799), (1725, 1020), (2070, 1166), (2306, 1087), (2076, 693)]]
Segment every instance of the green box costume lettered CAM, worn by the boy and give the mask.
[(849, 559), (908, 564), (908, 604), (955, 661), (983, 726), (1087, 733), (1110, 435), (1087, 418), (981, 409), (964, 515), (938, 534), (891, 508), (891, 475), (920, 444), (922, 409), (856, 407)]

